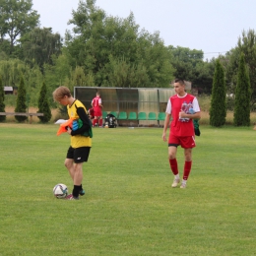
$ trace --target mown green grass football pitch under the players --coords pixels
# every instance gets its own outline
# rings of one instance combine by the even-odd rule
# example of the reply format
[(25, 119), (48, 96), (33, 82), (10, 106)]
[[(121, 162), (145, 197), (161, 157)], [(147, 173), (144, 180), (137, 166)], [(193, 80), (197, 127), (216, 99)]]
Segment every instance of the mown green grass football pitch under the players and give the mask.
[(171, 188), (161, 128), (95, 128), (79, 201), (52, 195), (72, 190), (57, 128), (0, 124), (1, 256), (256, 254), (252, 127), (200, 126), (186, 189)]

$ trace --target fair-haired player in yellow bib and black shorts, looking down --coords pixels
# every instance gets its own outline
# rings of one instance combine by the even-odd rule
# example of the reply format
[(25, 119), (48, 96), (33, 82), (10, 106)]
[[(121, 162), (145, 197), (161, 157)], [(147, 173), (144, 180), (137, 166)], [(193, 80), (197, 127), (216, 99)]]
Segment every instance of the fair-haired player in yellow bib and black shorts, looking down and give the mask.
[(86, 137), (83, 134), (90, 130), (91, 121), (89, 120), (85, 105), (80, 100), (74, 98), (68, 88), (61, 86), (52, 93), (52, 96), (55, 101), (67, 106), (70, 119), (80, 119), (83, 122), (80, 128), (78, 125), (73, 125), (74, 127), (76, 126), (76, 129), (67, 127), (67, 133), (71, 136), (71, 144), (64, 162), (74, 183), (72, 194), (68, 195), (66, 199), (78, 200), (80, 195), (85, 195), (85, 190), (82, 186), (83, 162), (88, 161), (92, 147), (92, 138), (90, 136)]

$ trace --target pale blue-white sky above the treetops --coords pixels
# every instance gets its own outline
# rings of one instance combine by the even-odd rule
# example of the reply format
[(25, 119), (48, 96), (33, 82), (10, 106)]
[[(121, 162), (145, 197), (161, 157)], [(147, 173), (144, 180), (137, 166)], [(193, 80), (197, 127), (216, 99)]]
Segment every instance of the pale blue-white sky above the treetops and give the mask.
[[(86, 0), (84, 0), (86, 1)], [(40, 27), (64, 36), (79, 0), (32, 0)], [(255, 0), (96, 0), (107, 15), (127, 18), (132, 12), (140, 30), (160, 32), (164, 45), (202, 50), (204, 59), (237, 45), (242, 31), (256, 31)]]

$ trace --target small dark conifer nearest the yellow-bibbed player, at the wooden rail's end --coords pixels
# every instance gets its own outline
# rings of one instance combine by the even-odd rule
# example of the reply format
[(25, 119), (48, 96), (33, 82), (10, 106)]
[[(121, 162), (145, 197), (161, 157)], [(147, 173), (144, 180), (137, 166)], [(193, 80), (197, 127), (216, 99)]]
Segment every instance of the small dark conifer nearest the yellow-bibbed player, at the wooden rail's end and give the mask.
[(49, 101), (47, 98), (47, 88), (44, 82), (42, 83), (40, 96), (38, 98), (37, 113), (43, 113), (43, 116), (38, 116), (38, 118), (42, 123), (47, 123), (51, 118), (51, 110), (50, 110)]

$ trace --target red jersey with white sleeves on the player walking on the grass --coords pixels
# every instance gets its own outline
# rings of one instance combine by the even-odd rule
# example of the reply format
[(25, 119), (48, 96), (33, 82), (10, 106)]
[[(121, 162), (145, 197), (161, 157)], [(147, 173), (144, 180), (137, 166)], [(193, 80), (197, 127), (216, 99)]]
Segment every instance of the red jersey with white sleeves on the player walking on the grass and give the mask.
[(193, 120), (190, 118), (179, 118), (179, 112), (183, 110), (189, 113), (189, 109), (193, 108), (195, 112), (199, 112), (198, 100), (195, 96), (186, 94), (185, 96), (171, 96), (168, 100), (166, 113), (171, 114), (172, 121), (170, 123), (170, 133), (175, 136), (194, 136)]

